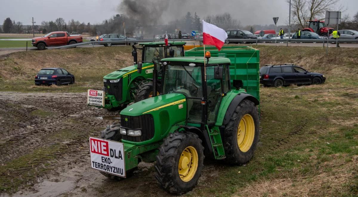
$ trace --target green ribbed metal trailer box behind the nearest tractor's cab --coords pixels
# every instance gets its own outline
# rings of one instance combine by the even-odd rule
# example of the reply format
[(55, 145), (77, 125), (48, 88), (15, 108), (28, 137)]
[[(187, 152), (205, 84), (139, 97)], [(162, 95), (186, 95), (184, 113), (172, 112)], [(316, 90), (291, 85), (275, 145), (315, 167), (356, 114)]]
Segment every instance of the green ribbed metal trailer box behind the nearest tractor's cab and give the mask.
[[(242, 80), (243, 88), (250, 95), (260, 101), (260, 51), (251, 47), (223, 47), (218, 51), (215, 47), (205, 47), (205, 51), (210, 51), (211, 57), (226, 57), (231, 61), (230, 80)], [(185, 56), (203, 56), (204, 48), (197, 47), (185, 51)]]

